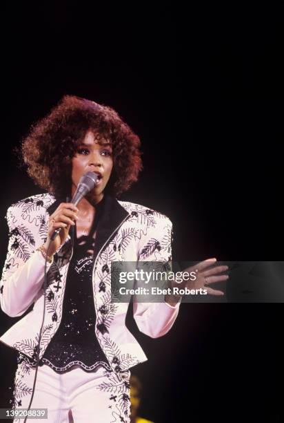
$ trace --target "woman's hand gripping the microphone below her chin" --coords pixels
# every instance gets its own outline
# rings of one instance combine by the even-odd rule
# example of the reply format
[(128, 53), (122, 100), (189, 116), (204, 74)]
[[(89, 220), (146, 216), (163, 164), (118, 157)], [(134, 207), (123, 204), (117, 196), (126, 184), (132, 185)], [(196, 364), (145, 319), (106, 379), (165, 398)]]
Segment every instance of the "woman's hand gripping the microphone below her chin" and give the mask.
[[(61, 203), (55, 212), (50, 215), (48, 220), (48, 238), (44, 245), (48, 256), (53, 256), (53, 254), (57, 252), (59, 247), (65, 242), (70, 226), (75, 225), (75, 220), (78, 218), (78, 211), (79, 209), (72, 203)], [(50, 238), (52, 237), (53, 232), (55, 229), (59, 229), (59, 227), (61, 227), (61, 231), (54, 241), (51, 241), (50, 243)]]

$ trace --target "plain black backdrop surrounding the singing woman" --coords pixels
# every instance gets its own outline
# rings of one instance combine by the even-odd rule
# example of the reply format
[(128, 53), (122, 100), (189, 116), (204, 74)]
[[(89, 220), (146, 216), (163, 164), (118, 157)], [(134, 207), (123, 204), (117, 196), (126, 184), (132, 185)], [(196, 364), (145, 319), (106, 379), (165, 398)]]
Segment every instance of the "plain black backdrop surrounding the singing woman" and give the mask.
[[(176, 259), (281, 260), (278, 4), (7, 6), (2, 263), (6, 209), (41, 192), (12, 149), (64, 94), (112, 106), (141, 137), (144, 171), (123, 199), (171, 218)], [(141, 414), (156, 423), (283, 421), (282, 311), (280, 303), (187, 303), (165, 337), (138, 334), (149, 357), (134, 368), (144, 385)], [(1, 333), (14, 321), (2, 313)], [(5, 346), (0, 354), (8, 406), (16, 358)]]

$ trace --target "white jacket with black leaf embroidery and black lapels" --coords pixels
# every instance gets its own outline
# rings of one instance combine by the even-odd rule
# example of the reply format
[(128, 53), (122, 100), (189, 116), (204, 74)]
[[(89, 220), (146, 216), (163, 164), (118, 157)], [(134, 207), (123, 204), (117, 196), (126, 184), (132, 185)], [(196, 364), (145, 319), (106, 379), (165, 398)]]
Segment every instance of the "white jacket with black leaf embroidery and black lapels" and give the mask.
[[(17, 321), (0, 341), (34, 359), (43, 317), (43, 276), (45, 260), (37, 247), (45, 242), (48, 218), (60, 204), (51, 194), (31, 196), (9, 207), (8, 255), (0, 287), (1, 309), (19, 317), (34, 303), (32, 311)], [(103, 220), (101, 225), (101, 220)], [(116, 372), (145, 361), (141, 346), (125, 326), (128, 303), (111, 303), (110, 264), (112, 261), (170, 261), (172, 223), (168, 217), (141, 205), (107, 196), (100, 220), (103, 228), (96, 238), (92, 285), (96, 312), (95, 335), (110, 366)], [(65, 243), (48, 263), (45, 292), (45, 320), (40, 345), (43, 357), (59, 328), (65, 281), (72, 256), (72, 242)], [(96, 246), (97, 244), (97, 246)], [(134, 319), (141, 332), (156, 338), (170, 330), (179, 303), (138, 303), (133, 299)]]

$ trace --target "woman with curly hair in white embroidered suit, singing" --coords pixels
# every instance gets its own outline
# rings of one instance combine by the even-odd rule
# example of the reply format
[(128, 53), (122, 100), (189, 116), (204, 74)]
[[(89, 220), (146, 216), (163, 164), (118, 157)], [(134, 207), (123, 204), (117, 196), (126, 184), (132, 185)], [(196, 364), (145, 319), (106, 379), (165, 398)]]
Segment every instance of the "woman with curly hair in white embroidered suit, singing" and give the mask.
[[(172, 242), (168, 217), (117, 200), (141, 171), (139, 138), (110, 107), (68, 95), (32, 126), (21, 153), (45, 194), (6, 214), (1, 308), (19, 317), (33, 307), (1, 337), (19, 352), (13, 406), (48, 408), (48, 422), (130, 422), (130, 368), (147, 357), (125, 326), (128, 304), (110, 301), (110, 265), (170, 262)], [(97, 182), (76, 206), (87, 172)], [(176, 297), (133, 299), (139, 330), (153, 338), (170, 330), (178, 310)]]

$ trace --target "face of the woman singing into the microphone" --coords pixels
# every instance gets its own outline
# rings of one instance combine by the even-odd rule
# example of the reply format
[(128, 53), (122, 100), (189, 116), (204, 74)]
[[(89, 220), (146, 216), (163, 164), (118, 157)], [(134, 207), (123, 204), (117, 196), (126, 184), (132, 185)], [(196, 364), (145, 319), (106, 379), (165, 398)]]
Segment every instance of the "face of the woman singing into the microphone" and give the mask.
[(74, 195), (81, 176), (93, 171), (100, 176), (99, 182), (90, 192), (95, 203), (103, 198), (103, 190), (112, 173), (112, 147), (107, 140), (96, 140), (94, 133), (88, 131), (77, 147), (77, 153), (72, 158), (72, 196)]

